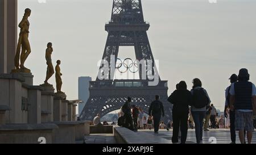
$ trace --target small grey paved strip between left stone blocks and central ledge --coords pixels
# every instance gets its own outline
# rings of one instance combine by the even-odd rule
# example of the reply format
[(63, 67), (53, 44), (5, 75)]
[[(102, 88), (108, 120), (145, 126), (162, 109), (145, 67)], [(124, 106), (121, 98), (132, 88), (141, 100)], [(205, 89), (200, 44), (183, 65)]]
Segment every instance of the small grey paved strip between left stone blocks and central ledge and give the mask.
[(85, 136), (86, 144), (115, 144), (115, 138), (113, 134), (90, 134)]

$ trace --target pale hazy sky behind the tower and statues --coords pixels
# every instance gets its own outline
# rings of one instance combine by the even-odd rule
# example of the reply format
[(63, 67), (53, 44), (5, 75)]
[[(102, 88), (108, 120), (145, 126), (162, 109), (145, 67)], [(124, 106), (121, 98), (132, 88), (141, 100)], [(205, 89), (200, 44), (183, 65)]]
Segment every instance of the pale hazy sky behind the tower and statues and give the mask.
[[(62, 61), (63, 91), (78, 98), (78, 77), (96, 79), (102, 58), (112, 0), (18, 0), (18, 20), (24, 9), (32, 10), (32, 53), (25, 66), (34, 74), (34, 84), (46, 75), (46, 45), (53, 43), (52, 60)], [(256, 1), (254, 0), (142, 0), (144, 19), (150, 22), (148, 37), (159, 60), (160, 77), (168, 80), (168, 95), (181, 80), (192, 87), (200, 78), (217, 108), (224, 108), (228, 78), (240, 68), (249, 69), (256, 82)], [(18, 22), (19, 22), (18, 21)], [(134, 49), (120, 48), (120, 58), (135, 58)], [(50, 83), (55, 86), (55, 77)]]

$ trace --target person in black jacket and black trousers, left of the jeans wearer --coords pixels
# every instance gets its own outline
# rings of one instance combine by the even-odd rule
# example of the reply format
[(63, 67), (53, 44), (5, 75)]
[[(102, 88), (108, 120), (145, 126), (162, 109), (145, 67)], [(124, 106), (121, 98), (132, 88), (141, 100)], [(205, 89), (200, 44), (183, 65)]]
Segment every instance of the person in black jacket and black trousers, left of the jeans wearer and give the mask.
[(172, 143), (178, 143), (179, 127), (181, 131), (181, 144), (185, 144), (188, 133), (188, 113), (192, 95), (187, 90), (185, 81), (179, 83), (179, 89), (170, 95), (168, 101), (174, 104), (172, 108), (172, 121), (174, 125)]

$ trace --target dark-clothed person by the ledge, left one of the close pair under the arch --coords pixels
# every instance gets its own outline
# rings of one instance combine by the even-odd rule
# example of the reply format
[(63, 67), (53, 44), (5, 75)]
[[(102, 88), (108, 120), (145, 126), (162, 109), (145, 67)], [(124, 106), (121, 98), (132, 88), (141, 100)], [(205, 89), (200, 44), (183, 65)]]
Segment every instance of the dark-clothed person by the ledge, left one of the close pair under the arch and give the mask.
[(131, 98), (128, 97), (127, 101), (125, 102), (125, 104), (123, 104), (121, 110), (124, 113), (124, 118), (125, 118), (125, 123), (123, 124), (123, 127), (128, 128), (132, 131), (134, 131), (134, 126), (133, 126), (133, 118), (131, 117)]

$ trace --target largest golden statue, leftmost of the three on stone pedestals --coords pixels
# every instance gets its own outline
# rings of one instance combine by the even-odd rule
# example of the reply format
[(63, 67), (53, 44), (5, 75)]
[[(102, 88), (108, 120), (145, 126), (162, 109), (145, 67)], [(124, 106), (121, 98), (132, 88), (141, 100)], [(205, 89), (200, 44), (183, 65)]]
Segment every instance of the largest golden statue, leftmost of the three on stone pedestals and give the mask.
[[(27, 72), (30, 73), (30, 70), (24, 67), (24, 62), (27, 60), (28, 55), (31, 53), (30, 42), (28, 41), (28, 33), (30, 33), (30, 22), (28, 22), (28, 17), (31, 14), (30, 9), (25, 9), (24, 16), (22, 21), (19, 23), (20, 33), (19, 40), (16, 49), (16, 55), (14, 58), (14, 65), (16, 67), (13, 72)], [(20, 53), (20, 48), (22, 51)], [(19, 64), (20, 61), (20, 64)]]

